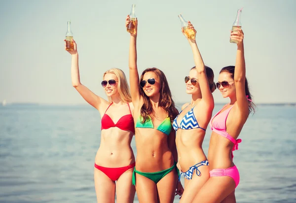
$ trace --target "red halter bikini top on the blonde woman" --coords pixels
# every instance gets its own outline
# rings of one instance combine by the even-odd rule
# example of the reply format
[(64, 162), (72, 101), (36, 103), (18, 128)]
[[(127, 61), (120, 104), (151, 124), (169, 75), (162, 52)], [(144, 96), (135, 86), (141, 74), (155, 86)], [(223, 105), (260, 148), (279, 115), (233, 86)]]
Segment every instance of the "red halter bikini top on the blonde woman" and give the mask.
[[(113, 103), (113, 102), (112, 102)], [(112, 104), (111, 103), (111, 104)], [(108, 106), (108, 108), (111, 106), (111, 104)], [(110, 118), (110, 116), (108, 114), (106, 114), (107, 110), (105, 111), (105, 114), (102, 117), (102, 124), (101, 124), (101, 130), (103, 129), (109, 129), (112, 127), (117, 127), (120, 130), (123, 131), (131, 131), (135, 134), (135, 124), (134, 124), (134, 118), (132, 116), (132, 112), (131, 112), (131, 108), (129, 106), (129, 104), (127, 103), (129, 109), (130, 109), (130, 114), (126, 114), (124, 116), (122, 116), (116, 124), (114, 124), (114, 122), (112, 121), (112, 119)]]

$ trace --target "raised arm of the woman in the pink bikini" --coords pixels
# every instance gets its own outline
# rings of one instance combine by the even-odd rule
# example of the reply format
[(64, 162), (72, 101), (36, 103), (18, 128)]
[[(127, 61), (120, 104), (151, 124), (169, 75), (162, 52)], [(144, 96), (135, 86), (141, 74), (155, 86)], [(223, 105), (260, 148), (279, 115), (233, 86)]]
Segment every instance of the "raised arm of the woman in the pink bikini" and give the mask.
[(234, 84), (236, 89), (236, 101), (241, 112), (249, 111), (249, 102), (246, 97), (246, 64), (244, 56), (244, 33), (241, 29), (235, 29), (238, 32), (231, 32), (230, 38), (238, 41), (236, 61), (234, 68)]

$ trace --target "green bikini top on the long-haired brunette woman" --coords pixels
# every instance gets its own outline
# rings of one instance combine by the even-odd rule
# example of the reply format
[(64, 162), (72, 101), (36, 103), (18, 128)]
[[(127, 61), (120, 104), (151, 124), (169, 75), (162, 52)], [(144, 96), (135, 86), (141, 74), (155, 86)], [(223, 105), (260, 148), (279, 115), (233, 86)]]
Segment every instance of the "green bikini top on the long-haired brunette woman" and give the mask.
[[(154, 125), (152, 123), (151, 117), (149, 117), (148, 119), (146, 119), (145, 123), (142, 123), (143, 121), (143, 117), (140, 115), (137, 123), (136, 123), (136, 127), (135, 128), (154, 128)], [(170, 117), (166, 117), (161, 124), (157, 127), (154, 128), (166, 135), (170, 135), (171, 130), (172, 130), (172, 123), (171, 123), (171, 119)]]

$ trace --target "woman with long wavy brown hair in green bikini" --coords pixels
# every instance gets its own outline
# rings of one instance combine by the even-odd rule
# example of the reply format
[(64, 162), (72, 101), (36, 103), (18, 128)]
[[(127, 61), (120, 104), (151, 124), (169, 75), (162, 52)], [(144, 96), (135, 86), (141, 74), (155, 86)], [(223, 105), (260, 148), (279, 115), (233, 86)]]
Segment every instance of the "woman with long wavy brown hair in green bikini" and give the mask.
[[(126, 26), (130, 18), (126, 18)], [(172, 203), (183, 188), (178, 179), (176, 132), (172, 122), (178, 110), (164, 73), (158, 68), (147, 68), (140, 80), (137, 69), (137, 25), (130, 36), (129, 68), (137, 162), (133, 184), (140, 203)], [(137, 181), (136, 181), (137, 180)]]

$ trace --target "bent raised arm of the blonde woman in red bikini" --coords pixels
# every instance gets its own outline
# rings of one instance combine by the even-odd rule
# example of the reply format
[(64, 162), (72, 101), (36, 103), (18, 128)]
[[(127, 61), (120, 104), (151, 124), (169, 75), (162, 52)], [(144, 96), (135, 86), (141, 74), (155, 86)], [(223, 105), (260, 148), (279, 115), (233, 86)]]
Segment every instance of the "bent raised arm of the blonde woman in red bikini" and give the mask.
[(92, 105), (96, 109), (100, 110), (102, 109), (103, 105), (108, 105), (109, 102), (97, 96), (92, 91), (90, 91), (87, 87), (85, 87), (80, 83), (77, 45), (74, 39), (72, 40), (74, 44), (74, 50), (68, 51), (72, 55), (72, 62), (71, 62), (72, 85), (86, 102), (88, 102), (90, 105)]

